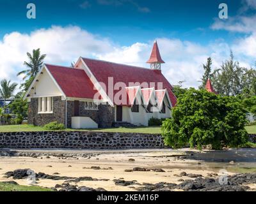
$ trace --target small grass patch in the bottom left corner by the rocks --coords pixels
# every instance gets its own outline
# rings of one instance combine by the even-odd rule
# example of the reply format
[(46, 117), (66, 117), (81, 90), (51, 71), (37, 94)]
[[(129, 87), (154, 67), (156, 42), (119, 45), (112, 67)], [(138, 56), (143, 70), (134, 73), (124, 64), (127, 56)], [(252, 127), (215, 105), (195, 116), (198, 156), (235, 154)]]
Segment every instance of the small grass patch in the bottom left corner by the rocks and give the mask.
[(39, 186), (19, 186), (0, 182), (0, 191), (52, 191)]

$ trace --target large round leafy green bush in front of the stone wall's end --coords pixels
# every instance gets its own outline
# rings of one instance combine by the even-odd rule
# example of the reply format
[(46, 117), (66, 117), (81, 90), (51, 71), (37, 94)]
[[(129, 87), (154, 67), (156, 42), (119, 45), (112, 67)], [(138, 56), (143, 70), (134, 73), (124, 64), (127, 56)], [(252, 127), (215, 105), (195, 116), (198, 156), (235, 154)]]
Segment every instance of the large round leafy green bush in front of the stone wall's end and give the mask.
[(246, 110), (232, 96), (215, 95), (205, 90), (189, 89), (173, 108), (172, 119), (163, 122), (162, 135), (166, 145), (174, 148), (212, 149), (238, 147), (248, 142)]

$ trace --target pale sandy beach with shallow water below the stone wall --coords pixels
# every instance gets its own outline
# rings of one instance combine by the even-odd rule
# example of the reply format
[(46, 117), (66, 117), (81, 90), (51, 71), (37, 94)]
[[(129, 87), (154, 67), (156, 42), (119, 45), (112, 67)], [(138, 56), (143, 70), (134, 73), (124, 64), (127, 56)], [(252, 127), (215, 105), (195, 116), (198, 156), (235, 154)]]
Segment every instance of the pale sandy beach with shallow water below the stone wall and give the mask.
[[(181, 172), (202, 175), (204, 178), (218, 177), (222, 169), (228, 175), (236, 173), (255, 173), (256, 150), (226, 150), (199, 152), (197, 150), (155, 149), (155, 150), (15, 150), (37, 154), (33, 157), (0, 157), (0, 182), (6, 179), (4, 173), (29, 168), (36, 173), (65, 177), (92, 177), (92, 181), (77, 182), (77, 186), (104, 188), (107, 191), (134, 191), (140, 185), (118, 186), (115, 179), (135, 181), (138, 184), (168, 182), (180, 184), (191, 179), (180, 176)], [(66, 157), (65, 154), (78, 156)], [(60, 154), (62, 156), (60, 156)], [(90, 156), (79, 157), (81, 154)], [(223, 159), (224, 158), (224, 159)], [(147, 168), (150, 171), (131, 171), (133, 168)], [(163, 172), (154, 171), (161, 169)], [(127, 171), (129, 170), (129, 171)], [(102, 181), (101, 179), (104, 179)], [(182, 180), (180, 180), (182, 179)], [(20, 185), (29, 185), (26, 179), (15, 180)], [(65, 180), (40, 179), (37, 186), (55, 187)], [(250, 187), (255, 189), (255, 184)]]

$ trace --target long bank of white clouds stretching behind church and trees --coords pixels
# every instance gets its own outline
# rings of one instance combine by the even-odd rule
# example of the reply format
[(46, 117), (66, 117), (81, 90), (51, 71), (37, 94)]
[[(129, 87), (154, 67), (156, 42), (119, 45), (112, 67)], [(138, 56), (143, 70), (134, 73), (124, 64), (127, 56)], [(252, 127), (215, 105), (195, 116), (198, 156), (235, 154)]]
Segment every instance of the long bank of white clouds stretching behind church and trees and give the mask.
[[(254, 44), (248, 40), (242, 47), (243, 41), (229, 46), (225, 41), (217, 40), (202, 46), (191, 41), (159, 38), (159, 49), (166, 62), (163, 64), (163, 73), (171, 84), (186, 81), (186, 87), (197, 87), (203, 73), (202, 64), (207, 57), (212, 57), (214, 68), (219, 67), (229, 56), (232, 47), (235, 57), (241, 59), (242, 64), (250, 64), (252, 56), (255, 56), (255, 39), (253, 37)], [(24, 69), (26, 52), (31, 52), (34, 48), (40, 48), (42, 54), (47, 54), (45, 62), (51, 64), (70, 66), (70, 62), (83, 56), (149, 68), (145, 62), (150, 56), (152, 45), (153, 41), (148, 41), (120, 47), (109, 39), (88, 33), (76, 26), (52, 26), (30, 34), (14, 32), (6, 34), (0, 40), (0, 79), (10, 78), (20, 82), (21, 77), (16, 77), (16, 74)], [(245, 50), (245, 47), (249, 48)], [(242, 52), (246, 57), (243, 57)]]

